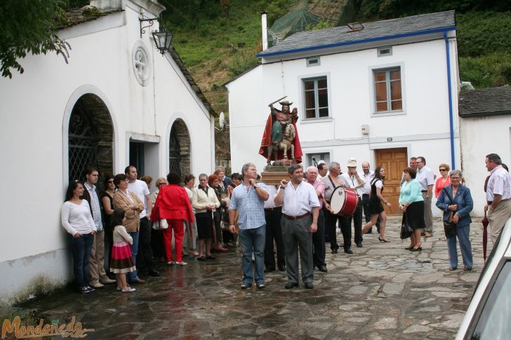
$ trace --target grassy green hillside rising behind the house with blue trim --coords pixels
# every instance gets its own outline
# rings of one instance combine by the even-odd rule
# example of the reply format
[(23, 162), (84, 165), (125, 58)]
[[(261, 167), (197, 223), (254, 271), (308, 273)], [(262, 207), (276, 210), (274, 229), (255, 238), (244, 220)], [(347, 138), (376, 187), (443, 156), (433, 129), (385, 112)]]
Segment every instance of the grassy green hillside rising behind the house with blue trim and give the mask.
[[(216, 111), (227, 111), (222, 84), (257, 64), (260, 11), (268, 25), (297, 6), (326, 6), (317, 27), (336, 25), (331, 11), (347, 4), (351, 18), (368, 22), (419, 13), (456, 9), (460, 76), (476, 88), (511, 83), (511, 5), (491, 0), (160, 0), (173, 45)], [(321, 2), (321, 4), (316, 4)], [(507, 2), (507, 1), (504, 1)], [(222, 8), (221, 3), (227, 4)], [(413, 6), (411, 5), (413, 3)], [(317, 5), (317, 6), (316, 6)], [(334, 6), (335, 5), (335, 6)]]

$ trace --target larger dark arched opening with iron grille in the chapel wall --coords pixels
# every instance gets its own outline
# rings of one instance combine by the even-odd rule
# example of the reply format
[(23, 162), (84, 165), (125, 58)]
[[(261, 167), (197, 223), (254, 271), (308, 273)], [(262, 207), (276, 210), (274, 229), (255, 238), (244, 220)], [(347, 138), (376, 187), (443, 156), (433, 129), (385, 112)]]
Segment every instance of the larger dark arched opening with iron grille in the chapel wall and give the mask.
[(105, 103), (92, 93), (79, 97), (68, 126), (69, 181), (84, 179), (89, 166), (98, 168), (103, 188), (105, 175), (113, 173), (113, 124)]

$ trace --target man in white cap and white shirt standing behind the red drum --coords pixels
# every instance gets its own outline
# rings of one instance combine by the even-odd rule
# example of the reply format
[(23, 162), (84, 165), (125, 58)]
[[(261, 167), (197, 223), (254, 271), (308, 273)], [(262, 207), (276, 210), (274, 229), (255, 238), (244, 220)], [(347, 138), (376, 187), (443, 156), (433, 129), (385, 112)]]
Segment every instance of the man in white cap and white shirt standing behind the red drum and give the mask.
[(344, 240), (345, 249), (351, 250), (351, 222), (355, 230), (355, 244), (357, 247), (362, 247), (362, 194), (364, 193), (364, 184), (366, 182), (362, 179), (363, 175), (357, 172), (357, 158), (350, 158), (347, 161), (347, 172), (341, 175), (344, 177), (345, 188), (354, 189), (359, 196), (359, 203), (353, 216), (343, 217), (341, 224), (346, 226), (347, 235)]

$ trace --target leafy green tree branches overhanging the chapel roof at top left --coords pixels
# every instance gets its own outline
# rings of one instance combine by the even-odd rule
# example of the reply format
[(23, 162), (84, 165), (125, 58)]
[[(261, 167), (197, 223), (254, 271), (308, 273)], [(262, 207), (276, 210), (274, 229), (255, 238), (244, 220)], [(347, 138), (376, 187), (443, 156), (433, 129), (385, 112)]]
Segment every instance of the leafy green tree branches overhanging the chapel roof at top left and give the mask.
[(11, 69), (24, 72), (20, 59), (27, 53), (39, 55), (51, 51), (69, 57), (69, 43), (55, 30), (66, 22), (62, 0), (0, 1), (0, 71), (12, 78)]

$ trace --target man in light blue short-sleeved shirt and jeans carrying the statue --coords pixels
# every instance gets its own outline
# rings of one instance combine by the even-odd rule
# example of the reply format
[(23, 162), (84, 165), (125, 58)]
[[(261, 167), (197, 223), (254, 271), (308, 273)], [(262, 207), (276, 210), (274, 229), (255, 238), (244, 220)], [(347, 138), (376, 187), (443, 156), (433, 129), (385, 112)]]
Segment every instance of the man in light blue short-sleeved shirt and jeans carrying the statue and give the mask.
[(254, 279), (252, 254), (255, 259), (255, 285), (259, 289), (265, 287), (265, 200), (270, 196), (264, 183), (256, 182), (258, 172), (255, 165), (246, 163), (241, 168), (243, 182), (232, 190), (229, 210), (229, 230), (236, 232), (234, 218), (239, 210), (238, 227), (243, 282), (241, 289), (251, 287)]

